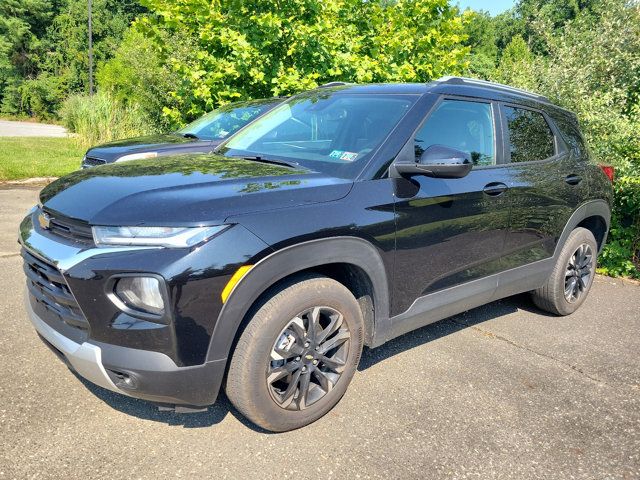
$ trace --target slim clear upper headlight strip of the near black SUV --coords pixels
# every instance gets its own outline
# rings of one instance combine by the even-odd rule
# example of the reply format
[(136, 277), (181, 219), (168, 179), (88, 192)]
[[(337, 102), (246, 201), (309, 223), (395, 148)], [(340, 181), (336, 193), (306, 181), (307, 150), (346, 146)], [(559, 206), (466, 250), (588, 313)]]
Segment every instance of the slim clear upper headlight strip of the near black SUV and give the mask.
[(92, 227), (96, 245), (187, 248), (206, 242), (229, 225), (213, 227)]

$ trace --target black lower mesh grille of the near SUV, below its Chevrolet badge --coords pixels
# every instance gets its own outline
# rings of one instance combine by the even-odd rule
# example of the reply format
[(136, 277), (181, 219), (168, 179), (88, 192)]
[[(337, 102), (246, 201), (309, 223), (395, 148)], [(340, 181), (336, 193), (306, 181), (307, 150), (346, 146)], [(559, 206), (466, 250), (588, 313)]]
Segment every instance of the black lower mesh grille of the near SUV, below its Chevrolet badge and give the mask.
[(61, 322), (76, 329), (88, 330), (89, 322), (84, 318), (60, 271), (24, 248), (21, 254), (24, 258), (27, 288), (36, 302)]

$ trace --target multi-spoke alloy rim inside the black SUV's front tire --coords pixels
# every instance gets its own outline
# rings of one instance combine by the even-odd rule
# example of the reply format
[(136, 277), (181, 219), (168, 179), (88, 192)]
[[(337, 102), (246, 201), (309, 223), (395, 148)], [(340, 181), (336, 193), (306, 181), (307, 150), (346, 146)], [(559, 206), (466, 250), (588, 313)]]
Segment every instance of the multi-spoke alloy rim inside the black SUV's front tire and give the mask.
[(266, 378), (273, 400), (287, 410), (304, 410), (323, 398), (344, 371), (350, 343), (337, 310), (316, 306), (296, 315), (271, 350)]

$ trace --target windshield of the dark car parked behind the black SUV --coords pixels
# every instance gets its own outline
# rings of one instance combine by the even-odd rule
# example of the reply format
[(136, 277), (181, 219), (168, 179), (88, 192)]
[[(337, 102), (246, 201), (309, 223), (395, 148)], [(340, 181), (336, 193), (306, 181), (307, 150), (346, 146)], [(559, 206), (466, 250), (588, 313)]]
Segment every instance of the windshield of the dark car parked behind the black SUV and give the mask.
[(273, 101), (227, 105), (203, 115), (177, 133), (204, 140), (224, 140), (278, 103)]

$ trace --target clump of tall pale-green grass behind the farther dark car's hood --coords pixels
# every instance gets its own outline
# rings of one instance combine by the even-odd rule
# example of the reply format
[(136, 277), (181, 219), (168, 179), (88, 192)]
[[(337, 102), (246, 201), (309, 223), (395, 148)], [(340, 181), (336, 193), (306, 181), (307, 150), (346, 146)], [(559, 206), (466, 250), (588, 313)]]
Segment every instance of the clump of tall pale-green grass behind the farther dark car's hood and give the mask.
[(108, 93), (72, 95), (60, 110), (62, 121), (83, 147), (154, 132), (135, 106), (124, 105)]

